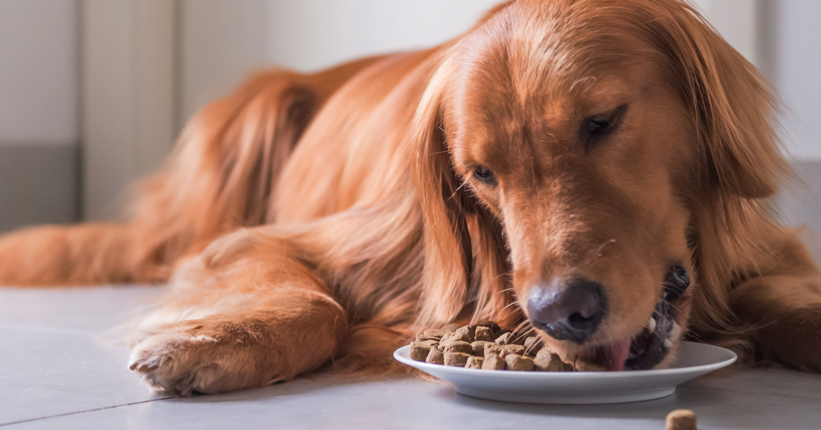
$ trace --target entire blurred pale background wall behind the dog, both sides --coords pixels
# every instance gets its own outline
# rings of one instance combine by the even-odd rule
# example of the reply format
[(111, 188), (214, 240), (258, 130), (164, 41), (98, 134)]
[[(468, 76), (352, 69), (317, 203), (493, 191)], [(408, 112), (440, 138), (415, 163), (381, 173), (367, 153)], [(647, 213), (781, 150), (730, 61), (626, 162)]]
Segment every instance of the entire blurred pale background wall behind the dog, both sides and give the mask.
[[(424, 48), (497, 0), (0, 0), (0, 231), (109, 219), (186, 119), (259, 67), (312, 71)], [(817, 0), (697, 0), (787, 105), (782, 198), (821, 229)]]

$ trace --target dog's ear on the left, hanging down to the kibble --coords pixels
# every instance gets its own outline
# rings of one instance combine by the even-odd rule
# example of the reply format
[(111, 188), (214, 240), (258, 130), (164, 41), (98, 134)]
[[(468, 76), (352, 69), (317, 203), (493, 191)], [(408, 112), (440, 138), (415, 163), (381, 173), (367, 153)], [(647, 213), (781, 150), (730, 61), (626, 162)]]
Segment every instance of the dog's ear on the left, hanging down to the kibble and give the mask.
[[(440, 71), (441, 72), (441, 71)], [(443, 125), (441, 78), (429, 84), (414, 120), (413, 173), (424, 215), (422, 298), (416, 325), (456, 318), (512, 323), (502, 226), (452, 166)]]

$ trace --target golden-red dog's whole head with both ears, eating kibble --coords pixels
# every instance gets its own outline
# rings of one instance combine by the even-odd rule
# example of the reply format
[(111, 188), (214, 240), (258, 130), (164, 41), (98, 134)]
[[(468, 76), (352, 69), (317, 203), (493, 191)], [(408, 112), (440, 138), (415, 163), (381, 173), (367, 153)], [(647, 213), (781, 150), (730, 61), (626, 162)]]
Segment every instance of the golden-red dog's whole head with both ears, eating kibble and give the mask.
[(758, 72), (676, 0), (511, 2), (439, 61), (415, 119), (420, 318), (512, 322), (515, 301), (566, 359), (667, 364), (716, 288), (705, 242), (733, 240), (714, 225), (773, 193)]

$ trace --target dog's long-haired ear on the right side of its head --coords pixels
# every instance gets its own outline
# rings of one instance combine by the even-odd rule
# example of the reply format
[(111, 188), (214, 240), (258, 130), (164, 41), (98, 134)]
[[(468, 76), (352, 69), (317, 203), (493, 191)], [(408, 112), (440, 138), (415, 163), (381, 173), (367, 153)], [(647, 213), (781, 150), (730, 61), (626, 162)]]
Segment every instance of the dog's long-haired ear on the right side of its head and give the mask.
[(759, 71), (684, 2), (662, 1), (646, 23), (698, 126), (701, 177), (748, 198), (767, 197), (788, 172), (773, 132), (774, 100)]

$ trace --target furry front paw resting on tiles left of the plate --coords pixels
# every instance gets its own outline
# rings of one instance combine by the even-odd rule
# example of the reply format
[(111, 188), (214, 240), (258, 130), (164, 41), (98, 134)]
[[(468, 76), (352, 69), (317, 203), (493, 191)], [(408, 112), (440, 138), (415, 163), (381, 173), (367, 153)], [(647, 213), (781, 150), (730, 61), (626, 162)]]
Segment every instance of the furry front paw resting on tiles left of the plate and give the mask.
[(146, 334), (131, 352), (128, 367), (158, 391), (190, 396), (259, 387), (272, 382), (259, 373), (248, 347), (230, 339), (167, 329)]

